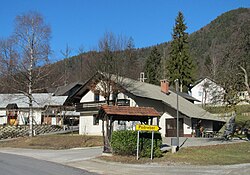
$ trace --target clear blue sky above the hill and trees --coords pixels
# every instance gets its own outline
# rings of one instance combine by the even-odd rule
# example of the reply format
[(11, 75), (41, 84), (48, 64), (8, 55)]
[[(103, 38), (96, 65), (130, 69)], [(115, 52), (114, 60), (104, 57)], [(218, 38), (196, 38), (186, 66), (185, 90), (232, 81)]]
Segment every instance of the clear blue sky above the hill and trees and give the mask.
[(37, 11), (50, 25), (54, 61), (98, 48), (104, 33), (132, 37), (136, 48), (171, 40), (175, 18), (184, 14), (187, 32), (209, 24), (222, 13), (250, 8), (250, 0), (0, 0), (0, 38), (9, 37), (17, 15)]

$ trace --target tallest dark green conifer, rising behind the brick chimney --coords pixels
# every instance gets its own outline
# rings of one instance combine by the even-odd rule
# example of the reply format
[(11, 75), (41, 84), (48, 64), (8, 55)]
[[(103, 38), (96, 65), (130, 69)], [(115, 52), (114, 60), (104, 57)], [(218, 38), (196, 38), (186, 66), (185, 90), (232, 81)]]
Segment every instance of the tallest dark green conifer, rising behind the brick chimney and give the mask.
[(195, 71), (194, 61), (190, 57), (186, 29), (184, 16), (179, 12), (173, 28), (168, 70), (170, 83), (173, 84), (178, 79), (180, 91), (188, 91), (188, 86), (194, 81)]

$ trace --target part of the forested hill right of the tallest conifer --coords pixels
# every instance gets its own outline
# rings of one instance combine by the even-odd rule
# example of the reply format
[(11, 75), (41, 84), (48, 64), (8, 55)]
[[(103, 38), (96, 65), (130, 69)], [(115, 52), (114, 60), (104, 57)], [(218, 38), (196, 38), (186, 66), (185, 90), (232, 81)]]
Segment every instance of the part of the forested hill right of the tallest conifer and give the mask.
[[(212, 69), (218, 69), (216, 65), (222, 61), (236, 62), (242, 57), (250, 60), (250, 8), (240, 8), (222, 14), (207, 26), (192, 33), (189, 41), (191, 54), (199, 65), (199, 76), (216, 79), (213, 71), (217, 70)], [(225, 60), (225, 57), (230, 58)]]

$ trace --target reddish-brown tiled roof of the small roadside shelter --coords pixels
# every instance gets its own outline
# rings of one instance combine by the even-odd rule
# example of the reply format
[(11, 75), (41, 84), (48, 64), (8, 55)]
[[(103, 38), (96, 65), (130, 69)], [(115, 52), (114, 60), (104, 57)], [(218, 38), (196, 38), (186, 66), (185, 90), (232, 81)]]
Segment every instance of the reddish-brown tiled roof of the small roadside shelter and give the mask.
[(151, 107), (129, 107), (129, 106), (108, 106), (103, 105), (101, 107), (108, 115), (123, 115), (123, 116), (147, 116), (147, 117), (159, 117), (160, 114)]

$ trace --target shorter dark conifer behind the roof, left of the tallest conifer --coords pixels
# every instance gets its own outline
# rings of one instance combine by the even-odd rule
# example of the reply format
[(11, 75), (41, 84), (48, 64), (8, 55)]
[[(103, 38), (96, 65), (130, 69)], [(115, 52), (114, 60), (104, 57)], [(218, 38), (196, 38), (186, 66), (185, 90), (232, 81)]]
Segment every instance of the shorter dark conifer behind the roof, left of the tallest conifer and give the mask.
[(161, 54), (154, 47), (146, 61), (144, 71), (146, 75), (146, 82), (159, 85), (159, 68), (161, 63)]

